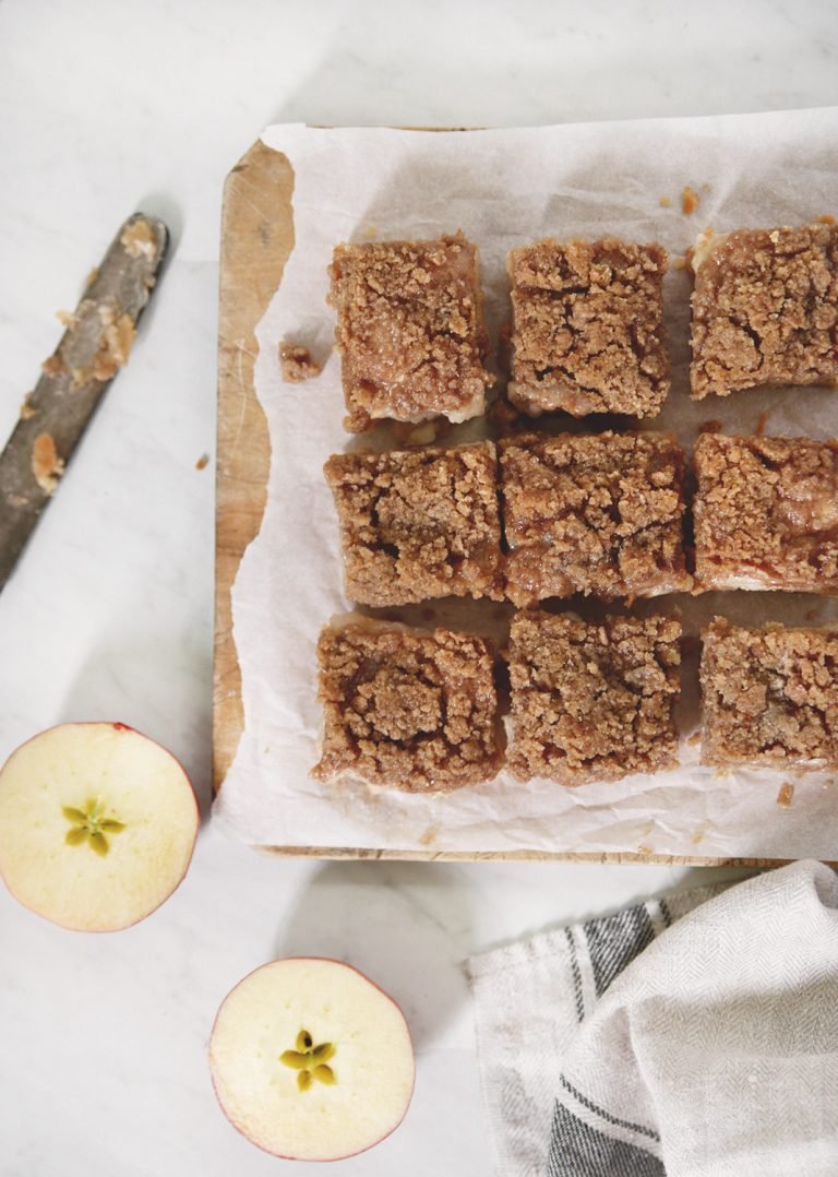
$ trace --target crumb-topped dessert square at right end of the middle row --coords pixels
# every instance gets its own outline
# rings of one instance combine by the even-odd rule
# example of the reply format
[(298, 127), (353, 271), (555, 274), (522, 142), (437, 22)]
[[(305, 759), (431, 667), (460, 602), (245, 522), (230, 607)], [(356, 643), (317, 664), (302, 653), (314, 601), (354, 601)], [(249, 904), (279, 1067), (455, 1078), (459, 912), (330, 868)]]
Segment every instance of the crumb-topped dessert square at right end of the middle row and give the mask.
[(838, 441), (696, 443), (699, 590), (838, 592)]

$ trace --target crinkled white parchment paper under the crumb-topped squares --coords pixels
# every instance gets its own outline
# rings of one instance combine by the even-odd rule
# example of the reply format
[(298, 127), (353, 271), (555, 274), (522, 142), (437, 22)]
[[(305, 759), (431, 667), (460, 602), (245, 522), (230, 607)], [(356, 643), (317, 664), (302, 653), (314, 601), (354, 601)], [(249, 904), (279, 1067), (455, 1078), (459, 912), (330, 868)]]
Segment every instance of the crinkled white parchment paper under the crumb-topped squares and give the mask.
[[(257, 393), (267, 414), (272, 464), (261, 531), (233, 587), (246, 725), (215, 814), (244, 839), (274, 846), (838, 857), (838, 787), (831, 776), (718, 773), (698, 765), (694, 654), (684, 671), (681, 766), (671, 772), (576, 790), (547, 782), (521, 785), (501, 774), (438, 797), (357, 782), (321, 785), (308, 776), (319, 756), (318, 632), (351, 609), (341, 593), (337, 520), (321, 476), (331, 453), (357, 445), (341, 427), (334, 319), (325, 304), (333, 246), (463, 228), (480, 247), (487, 317), (497, 333), (508, 318), (504, 267), (514, 245), (544, 235), (616, 233), (658, 240), (674, 257), (707, 225), (724, 232), (838, 213), (838, 108), (467, 133), (274, 126), (262, 139), (294, 168), (295, 245), (258, 330)], [(700, 198), (690, 217), (680, 207), (687, 184)], [(709, 419), (729, 432), (753, 432), (767, 413), (767, 433), (838, 434), (836, 392), (745, 392), (692, 404), (690, 287), (683, 271), (667, 275), (673, 388), (664, 413), (644, 427), (674, 428), (689, 445)], [(284, 384), (277, 360), (281, 339), (327, 358), (321, 377)], [(473, 426), (465, 428), (446, 444), (474, 433)], [(746, 624), (838, 619), (834, 600), (784, 593), (678, 596), (638, 609), (678, 609), (690, 633), (714, 613)], [(491, 603), (454, 603), (433, 618), (415, 610), (403, 616), (486, 632), (503, 630), (507, 620)], [(794, 785), (789, 806), (777, 803), (785, 780)]]

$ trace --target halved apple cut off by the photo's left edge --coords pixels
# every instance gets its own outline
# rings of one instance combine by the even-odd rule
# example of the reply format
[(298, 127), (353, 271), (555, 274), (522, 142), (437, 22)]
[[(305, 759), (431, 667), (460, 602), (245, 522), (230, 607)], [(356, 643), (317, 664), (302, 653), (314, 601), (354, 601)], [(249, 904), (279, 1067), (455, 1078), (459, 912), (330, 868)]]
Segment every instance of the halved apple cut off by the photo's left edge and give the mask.
[(178, 886), (198, 833), (189, 779), (125, 724), (61, 724), (0, 770), (0, 877), (55, 924), (114, 932)]

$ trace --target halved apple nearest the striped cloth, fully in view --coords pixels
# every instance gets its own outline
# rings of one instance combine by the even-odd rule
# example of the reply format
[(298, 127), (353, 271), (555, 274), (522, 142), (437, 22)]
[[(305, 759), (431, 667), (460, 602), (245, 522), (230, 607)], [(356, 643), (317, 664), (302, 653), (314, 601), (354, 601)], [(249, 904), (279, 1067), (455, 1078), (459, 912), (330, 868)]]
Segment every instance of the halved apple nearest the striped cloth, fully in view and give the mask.
[(401, 1010), (351, 965), (274, 960), (239, 982), (210, 1039), (234, 1128), (288, 1161), (340, 1161), (401, 1123), (413, 1093)]

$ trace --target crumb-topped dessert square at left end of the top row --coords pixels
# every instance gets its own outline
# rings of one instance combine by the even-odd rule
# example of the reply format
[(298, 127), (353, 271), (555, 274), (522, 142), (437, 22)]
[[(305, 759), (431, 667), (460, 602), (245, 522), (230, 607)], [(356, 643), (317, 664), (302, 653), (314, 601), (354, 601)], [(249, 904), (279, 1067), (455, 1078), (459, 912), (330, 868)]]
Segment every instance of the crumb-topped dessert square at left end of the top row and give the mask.
[(330, 277), (347, 430), (485, 411), (493, 377), (483, 366), (478, 251), (461, 233), (339, 245)]

